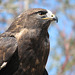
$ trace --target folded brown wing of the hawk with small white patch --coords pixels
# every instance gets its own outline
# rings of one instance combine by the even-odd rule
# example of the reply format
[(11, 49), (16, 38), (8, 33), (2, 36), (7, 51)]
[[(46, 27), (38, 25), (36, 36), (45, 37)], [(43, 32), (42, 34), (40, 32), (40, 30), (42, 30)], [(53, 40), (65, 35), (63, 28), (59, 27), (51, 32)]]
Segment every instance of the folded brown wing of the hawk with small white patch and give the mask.
[(17, 49), (17, 41), (14, 37), (0, 38), (0, 69), (6, 66)]

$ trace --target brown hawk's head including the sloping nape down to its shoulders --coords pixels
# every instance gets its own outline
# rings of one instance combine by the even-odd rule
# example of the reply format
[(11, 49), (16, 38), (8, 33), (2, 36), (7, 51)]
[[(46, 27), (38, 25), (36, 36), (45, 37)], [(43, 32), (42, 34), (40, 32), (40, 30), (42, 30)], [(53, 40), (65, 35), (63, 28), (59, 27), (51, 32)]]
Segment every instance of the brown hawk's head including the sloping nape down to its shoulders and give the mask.
[(20, 14), (7, 31), (19, 31), (21, 28), (48, 29), (52, 21), (58, 22), (58, 18), (50, 10), (33, 8)]

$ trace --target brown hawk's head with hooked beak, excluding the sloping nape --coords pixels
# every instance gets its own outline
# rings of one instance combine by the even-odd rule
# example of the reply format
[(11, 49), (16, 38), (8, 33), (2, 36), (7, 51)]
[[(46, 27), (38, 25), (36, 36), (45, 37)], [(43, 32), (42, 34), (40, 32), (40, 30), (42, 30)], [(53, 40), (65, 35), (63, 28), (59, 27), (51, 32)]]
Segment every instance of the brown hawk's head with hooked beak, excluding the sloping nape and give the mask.
[(26, 15), (26, 21), (25, 21), (25, 27), (31, 27), (31, 28), (43, 28), (50, 25), (52, 21), (57, 21), (58, 18), (50, 11), (46, 9), (40, 9), (40, 8), (34, 8), (29, 9), (25, 13)]

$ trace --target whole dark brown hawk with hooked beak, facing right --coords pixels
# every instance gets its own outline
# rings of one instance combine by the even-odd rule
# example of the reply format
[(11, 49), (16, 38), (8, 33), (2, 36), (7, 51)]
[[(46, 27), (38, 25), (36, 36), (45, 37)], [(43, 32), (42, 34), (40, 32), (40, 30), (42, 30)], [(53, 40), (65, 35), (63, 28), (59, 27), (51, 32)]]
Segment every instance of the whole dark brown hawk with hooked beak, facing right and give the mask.
[(48, 27), (58, 18), (50, 11), (33, 8), (21, 13), (0, 35), (0, 75), (48, 75)]

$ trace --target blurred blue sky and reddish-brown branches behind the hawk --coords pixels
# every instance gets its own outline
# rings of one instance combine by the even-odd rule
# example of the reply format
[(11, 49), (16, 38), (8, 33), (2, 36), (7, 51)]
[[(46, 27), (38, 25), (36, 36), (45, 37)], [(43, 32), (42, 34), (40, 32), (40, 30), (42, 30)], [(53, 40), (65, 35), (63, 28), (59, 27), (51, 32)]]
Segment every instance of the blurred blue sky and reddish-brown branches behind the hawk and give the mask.
[(46, 64), (49, 75), (75, 75), (75, 0), (0, 0), (0, 34), (29, 8), (44, 8), (58, 16), (52, 23), (50, 54)]

